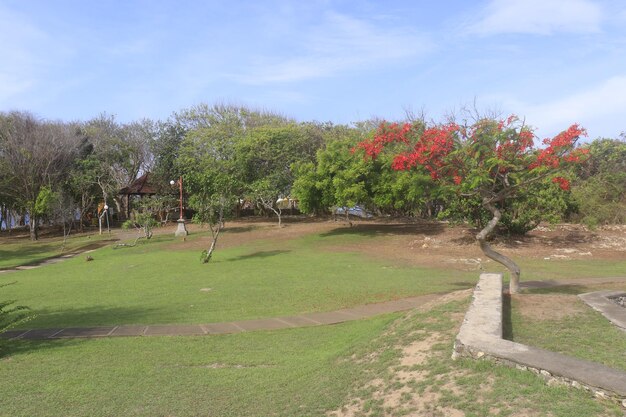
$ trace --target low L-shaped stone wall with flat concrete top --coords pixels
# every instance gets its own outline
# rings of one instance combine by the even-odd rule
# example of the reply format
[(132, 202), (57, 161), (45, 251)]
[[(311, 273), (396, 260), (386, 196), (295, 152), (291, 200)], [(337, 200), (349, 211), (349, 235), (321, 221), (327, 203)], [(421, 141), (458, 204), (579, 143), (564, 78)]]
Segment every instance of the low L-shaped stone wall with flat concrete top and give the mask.
[[(619, 316), (626, 309), (608, 299), (616, 296), (619, 294), (615, 292), (598, 292), (583, 294), (581, 298), (592, 298), (605, 311)], [(621, 311), (614, 311), (613, 306)], [(456, 337), (452, 357), (490, 359), (532, 371), (544, 377), (548, 384), (584, 389), (598, 398), (617, 401), (626, 408), (626, 372), (502, 338), (502, 274), (480, 275), (472, 303)]]

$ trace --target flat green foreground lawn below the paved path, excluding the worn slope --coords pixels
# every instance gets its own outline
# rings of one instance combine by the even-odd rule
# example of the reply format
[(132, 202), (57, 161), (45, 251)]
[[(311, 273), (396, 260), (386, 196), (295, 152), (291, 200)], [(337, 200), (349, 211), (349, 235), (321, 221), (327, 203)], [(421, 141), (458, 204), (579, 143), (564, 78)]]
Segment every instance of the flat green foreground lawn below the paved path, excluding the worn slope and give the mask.
[[(0, 342), (0, 416), (322, 416), (395, 316), (203, 337)], [(3, 344), (2, 344), (3, 343)]]

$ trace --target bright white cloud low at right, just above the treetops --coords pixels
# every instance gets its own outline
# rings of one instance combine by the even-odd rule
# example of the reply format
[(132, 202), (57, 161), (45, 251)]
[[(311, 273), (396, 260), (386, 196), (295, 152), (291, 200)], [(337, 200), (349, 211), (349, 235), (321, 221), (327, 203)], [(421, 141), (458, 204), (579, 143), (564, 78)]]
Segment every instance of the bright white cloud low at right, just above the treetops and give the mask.
[(571, 124), (579, 123), (587, 129), (590, 139), (617, 137), (626, 131), (623, 118), (626, 114), (626, 75), (609, 78), (592, 88), (551, 102), (531, 105), (510, 101), (507, 104), (507, 107), (522, 109), (520, 116), (537, 126), (541, 136), (553, 136)]

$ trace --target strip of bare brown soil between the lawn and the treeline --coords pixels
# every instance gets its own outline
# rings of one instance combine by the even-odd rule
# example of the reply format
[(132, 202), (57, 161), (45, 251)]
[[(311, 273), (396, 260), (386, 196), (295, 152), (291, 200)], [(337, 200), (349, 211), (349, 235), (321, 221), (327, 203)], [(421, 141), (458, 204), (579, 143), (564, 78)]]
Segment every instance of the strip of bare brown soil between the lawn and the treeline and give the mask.
[[(190, 231), (199, 231), (198, 226), (192, 225)], [(183, 248), (206, 246), (208, 230), (205, 233), (205, 238), (190, 241)], [(477, 230), (450, 226), (444, 222), (416, 220), (357, 221), (349, 226), (342, 221), (291, 219), (285, 221), (282, 228), (278, 228), (276, 222), (239, 220), (226, 224), (218, 245), (229, 247), (242, 239), (291, 239), (310, 233), (363, 233), (375, 238), (332, 249), (359, 251), (407, 264), (441, 266), (443, 262), (451, 269), (474, 270), (485, 260), (474, 239)], [(494, 240), (493, 246), (512, 257), (623, 260), (626, 258), (626, 226), (607, 226), (597, 230), (571, 224), (539, 226), (525, 236), (499, 237)]]

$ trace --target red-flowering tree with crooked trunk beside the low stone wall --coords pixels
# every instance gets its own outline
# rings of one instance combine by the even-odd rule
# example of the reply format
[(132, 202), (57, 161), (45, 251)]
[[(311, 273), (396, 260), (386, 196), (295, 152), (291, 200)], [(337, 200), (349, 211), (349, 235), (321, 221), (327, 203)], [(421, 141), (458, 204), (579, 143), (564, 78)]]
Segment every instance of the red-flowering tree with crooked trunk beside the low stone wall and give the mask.
[[(478, 197), (492, 217), (476, 240), (487, 257), (511, 272), (510, 291), (515, 293), (520, 268), (493, 250), (487, 238), (502, 218), (507, 200), (525, 187), (551, 179), (562, 190), (569, 189), (567, 167), (587, 159), (587, 150), (576, 146), (585, 135), (585, 129), (572, 125), (537, 148), (532, 128), (515, 116), (481, 119), (471, 126), (383, 123), (373, 139), (359, 143), (356, 149), (362, 149), (366, 158), (376, 158), (391, 146), (393, 169), (421, 167), (459, 196)], [(399, 152), (398, 146), (402, 148)]]

